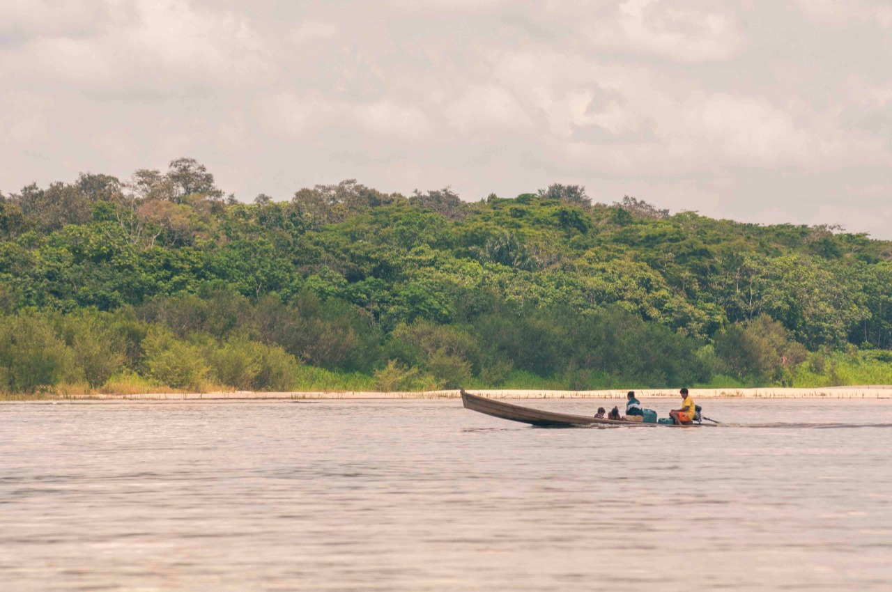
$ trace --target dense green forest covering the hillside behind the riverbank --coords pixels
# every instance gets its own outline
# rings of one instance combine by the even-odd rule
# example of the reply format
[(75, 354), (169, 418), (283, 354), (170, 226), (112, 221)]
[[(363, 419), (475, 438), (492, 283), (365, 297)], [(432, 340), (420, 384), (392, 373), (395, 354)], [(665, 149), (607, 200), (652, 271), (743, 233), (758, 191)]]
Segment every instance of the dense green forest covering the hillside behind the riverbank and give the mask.
[(0, 193), (0, 391), (892, 383), (892, 243), (578, 185)]

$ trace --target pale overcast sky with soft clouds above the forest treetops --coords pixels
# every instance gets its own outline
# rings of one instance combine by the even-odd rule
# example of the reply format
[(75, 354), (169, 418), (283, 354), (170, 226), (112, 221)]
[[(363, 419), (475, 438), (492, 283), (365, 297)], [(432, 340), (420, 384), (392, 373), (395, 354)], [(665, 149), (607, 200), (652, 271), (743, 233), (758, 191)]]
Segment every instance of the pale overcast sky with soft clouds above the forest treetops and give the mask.
[(892, 238), (889, 0), (2, 0), (0, 190), (586, 185)]

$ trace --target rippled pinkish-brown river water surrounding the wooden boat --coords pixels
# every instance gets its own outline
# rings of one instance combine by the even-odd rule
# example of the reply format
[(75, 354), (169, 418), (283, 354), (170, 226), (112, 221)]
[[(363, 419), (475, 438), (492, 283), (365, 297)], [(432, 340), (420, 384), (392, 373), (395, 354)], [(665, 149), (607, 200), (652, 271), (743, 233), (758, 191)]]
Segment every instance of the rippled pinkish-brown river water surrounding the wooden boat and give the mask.
[(0, 404), (0, 588), (892, 589), (892, 401), (698, 402)]

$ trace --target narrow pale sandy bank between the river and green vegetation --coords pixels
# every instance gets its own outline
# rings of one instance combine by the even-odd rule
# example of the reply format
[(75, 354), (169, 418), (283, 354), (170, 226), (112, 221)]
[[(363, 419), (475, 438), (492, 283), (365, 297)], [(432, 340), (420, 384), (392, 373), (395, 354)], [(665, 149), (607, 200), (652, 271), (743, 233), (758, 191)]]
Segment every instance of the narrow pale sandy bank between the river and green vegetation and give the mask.
[[(625, 390), (615, 391), (473, 391), (492, 399), (624, 399)], [(678, 397), (677, 389), (644, 389), (640, 397)], [(892, 399), (892, 386), (823, 387), (816, 389), (691, 389), (694, 399)], [(458, 391), (425, 392), (159, 392), (128, 395), (70, 395), (65, 400), (220, 400), (220, 399), (458, 399)]]

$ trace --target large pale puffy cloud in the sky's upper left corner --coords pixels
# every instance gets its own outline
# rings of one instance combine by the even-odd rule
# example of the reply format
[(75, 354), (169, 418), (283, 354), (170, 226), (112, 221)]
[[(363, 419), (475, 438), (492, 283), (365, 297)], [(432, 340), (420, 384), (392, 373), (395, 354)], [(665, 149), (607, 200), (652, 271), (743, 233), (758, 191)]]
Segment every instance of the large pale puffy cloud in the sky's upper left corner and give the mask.
[(276, 70), (266, 40), (239, 14), (204, 10), (186, 0), (124, 6), (128, 10), (109, 10), (90, 35), (52, 32), (0, 53), (0, 72), (99, 90), (163, 89), (182, 82), (241, 88), (268, 80)]

